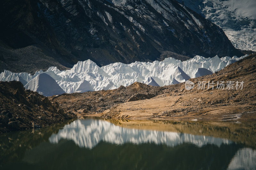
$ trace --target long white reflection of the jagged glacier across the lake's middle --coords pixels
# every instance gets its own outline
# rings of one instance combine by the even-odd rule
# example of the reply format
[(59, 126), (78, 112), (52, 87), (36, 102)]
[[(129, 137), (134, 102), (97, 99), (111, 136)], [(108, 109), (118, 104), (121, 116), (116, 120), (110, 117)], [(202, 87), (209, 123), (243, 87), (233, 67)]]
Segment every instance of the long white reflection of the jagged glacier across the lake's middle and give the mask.
[(59, 130), (58, 134), (53, 134), (49, 141), (58, 143), (60, 139), (73, 140), (79, 147), (86, 148), (93, 148), (100, 141), (113, 144), (155, 143), (166, 144), (171, 147), (182, 143), (193, 143), (198, 147), (206, 144), (220, 146), (222, 143), (231, 143), (227, 139), (210, 136), (121, 128), (105, 120), (95, 119), (76, 120), (65, 125), (63, 129)]

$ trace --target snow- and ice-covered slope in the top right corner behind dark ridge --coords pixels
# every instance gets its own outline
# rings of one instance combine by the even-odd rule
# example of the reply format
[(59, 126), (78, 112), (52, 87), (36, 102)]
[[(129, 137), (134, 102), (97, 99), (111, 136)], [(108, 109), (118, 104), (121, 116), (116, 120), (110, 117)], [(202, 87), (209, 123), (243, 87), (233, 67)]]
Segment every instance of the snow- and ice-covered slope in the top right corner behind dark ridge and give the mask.
[(177, 0), (220, 26), (241, 50), (256, 51), (256, 1)]

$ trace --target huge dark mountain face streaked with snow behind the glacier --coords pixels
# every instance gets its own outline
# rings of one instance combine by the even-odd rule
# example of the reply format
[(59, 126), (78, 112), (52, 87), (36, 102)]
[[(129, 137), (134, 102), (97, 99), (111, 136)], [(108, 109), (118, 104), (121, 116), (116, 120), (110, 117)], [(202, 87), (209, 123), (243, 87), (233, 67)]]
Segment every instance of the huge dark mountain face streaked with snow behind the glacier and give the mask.
[[(48, 62), (52, 58), (67, 67), (86, 59), (102, 66), (165, 57), (241, 55), (219, 27), (174, 0), (120, 1), (4, 0), (0, 71), (12, 65), (6, 64), (8, 51), (19, 63), (22, 55), (17, 49), (28, 46), (36, 48), (37, 58), (47, 56)], [(30, 53), (26, 55), (29, 58)]]

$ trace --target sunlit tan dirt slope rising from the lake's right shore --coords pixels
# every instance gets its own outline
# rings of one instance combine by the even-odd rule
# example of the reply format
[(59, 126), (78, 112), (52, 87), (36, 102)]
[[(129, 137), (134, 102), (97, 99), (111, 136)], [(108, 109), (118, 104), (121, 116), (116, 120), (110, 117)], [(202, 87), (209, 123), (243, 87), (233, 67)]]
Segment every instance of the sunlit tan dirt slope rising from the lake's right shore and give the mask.
[[(256, 57), (251, 55), (233, 63), (212, 75), (190, 81), (195, 83), (191, 90), (185, 83), (167, 86), (166, 93), (151, 99), (119, 104), (102, 113), (102, 118), (131, 120), (222, 120), (256, 121)], [(199, 82), (206, 82), (199, 89)], [(208, 88), (208, 81), (215, 83)], [(217, 82), (224, 81), (224, 89), (216, 89)], [(227, 82), (234, 83), (226, 89)], [(236, 81), (242, 87), (236, 89)], [(211, 85), (211, 84), (209, 84)], [(165, 87), (166, 88), (166, 87)], [(175, 90), (173, 90), (175, 89)]]

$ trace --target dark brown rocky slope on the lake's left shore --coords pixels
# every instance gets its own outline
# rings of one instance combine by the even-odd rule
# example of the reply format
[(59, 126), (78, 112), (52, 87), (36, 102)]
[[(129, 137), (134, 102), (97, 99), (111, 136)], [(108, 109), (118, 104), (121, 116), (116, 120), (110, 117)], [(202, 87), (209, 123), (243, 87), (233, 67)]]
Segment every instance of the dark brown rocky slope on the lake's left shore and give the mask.
[(75, 117), (47, 97), (25, 90), (19, 81), (0, 82), (0, 133), (45, 127)]

